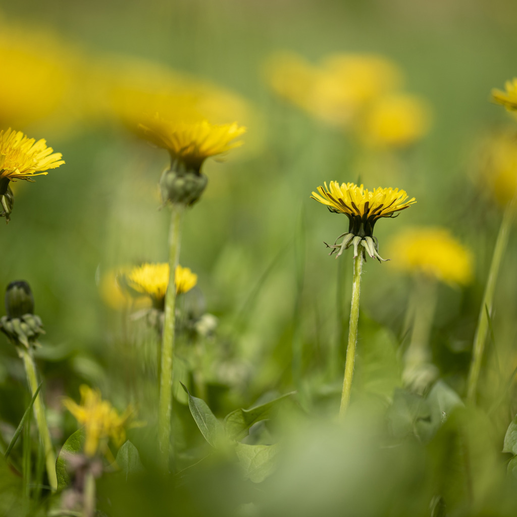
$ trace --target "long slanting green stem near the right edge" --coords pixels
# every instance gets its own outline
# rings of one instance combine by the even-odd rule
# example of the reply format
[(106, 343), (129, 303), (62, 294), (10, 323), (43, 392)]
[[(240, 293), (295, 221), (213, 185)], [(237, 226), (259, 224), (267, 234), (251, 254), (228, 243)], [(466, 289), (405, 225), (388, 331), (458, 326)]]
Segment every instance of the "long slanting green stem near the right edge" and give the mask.
[(508, 237), (514, 216), (515, 202), (514, 196), (513, 200), (506, 206), (503, 220), (499, 227), (499, 233), (497, 234), (497, 239), (495, 241), (492, 263), (490, 264), (490, 271), (485, 285), (483, 301), (481, 302), (481, 308), (479, 310), (478, 326), (474, 335), (474, 347), (467, 381), (467, 399), (470, 402), (474, 402), (476, 398), (476, 387), (478, 384), (479, 373), (481, 371), (486, 334), (488, 332), (488, 316), (486, 312), (488, 311), (492, 316), (495, 285), (497, 283), (501, 262), (503, 261), (503, 256), (508, 245)]

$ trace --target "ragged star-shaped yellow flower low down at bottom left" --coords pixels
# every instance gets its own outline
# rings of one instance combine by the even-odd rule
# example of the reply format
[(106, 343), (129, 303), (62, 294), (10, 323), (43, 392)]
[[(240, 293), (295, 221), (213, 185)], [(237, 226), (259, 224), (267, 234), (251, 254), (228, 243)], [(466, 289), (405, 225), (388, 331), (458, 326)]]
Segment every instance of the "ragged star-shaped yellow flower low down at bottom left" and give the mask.
[(84, 453), (93, 457), (97, 452), (103, 452), (111, 438), (119, 447), (126, 439), (126, 427), (132, 417), (133, 410), (128, 407), (122, 415), (106, 400), (102, 400), (98, 389), (94, 390), (86, 385), (79, 388), (81, 403), (66, 398), (63, 405), (75, 417), (80, 425), (84, 426), (85, 442)]

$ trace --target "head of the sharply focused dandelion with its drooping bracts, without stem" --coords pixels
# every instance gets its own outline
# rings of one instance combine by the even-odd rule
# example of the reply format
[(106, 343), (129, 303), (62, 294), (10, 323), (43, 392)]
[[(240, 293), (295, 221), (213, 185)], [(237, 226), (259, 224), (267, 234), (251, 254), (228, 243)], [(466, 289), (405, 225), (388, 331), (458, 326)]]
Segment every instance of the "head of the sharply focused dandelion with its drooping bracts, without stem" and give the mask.
[[(416, 203), (415, 198), (409, 199), (406, 191), (398, 188), (378, 187), (370, 192), (354, 183), (340, 185), (337, 181), (330, 181), (330, 188), (326, 182), (324, 185), (325, 188), (320, 186), (317, 192), (312, 192), (312, 199), (326, 205), (331, 212), (344, 214), (349, 222), (348, 232), (340, 235), (332, 246), (327, 244), (332, 248), (330, 255), (337, 251), (338, 257), (345, 249), (354, 246), (356, 257), (358, 246), (361, 245), (372, 258), (384, 260), (378, 254), (378, 242), (373, 237), (375, 222), (382, 217), (394, 217), (396, 212)], [(338, 245), (337, 241), (342, 237), (343, 241)]]

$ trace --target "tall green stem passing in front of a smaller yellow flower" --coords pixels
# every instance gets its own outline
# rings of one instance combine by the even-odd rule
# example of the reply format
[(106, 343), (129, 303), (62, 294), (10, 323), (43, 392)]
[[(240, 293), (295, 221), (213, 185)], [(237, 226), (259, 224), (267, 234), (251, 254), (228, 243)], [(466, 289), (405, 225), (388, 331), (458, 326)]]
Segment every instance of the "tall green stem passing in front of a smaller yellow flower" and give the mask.
[(174, 356), (174, 326), (176, 289), (174, 275), (179, 260), (180, 226), (183, 206), (172, 205), (171, 226), (169, 231), (169, 288), (165, 296), (165, 321), (161, 347), (160, 400), (158, 403), (158, 439), (161, 461), (165, 472), (169, 468), (169, 448), (171, 442), (172, 409), (172, 367)]

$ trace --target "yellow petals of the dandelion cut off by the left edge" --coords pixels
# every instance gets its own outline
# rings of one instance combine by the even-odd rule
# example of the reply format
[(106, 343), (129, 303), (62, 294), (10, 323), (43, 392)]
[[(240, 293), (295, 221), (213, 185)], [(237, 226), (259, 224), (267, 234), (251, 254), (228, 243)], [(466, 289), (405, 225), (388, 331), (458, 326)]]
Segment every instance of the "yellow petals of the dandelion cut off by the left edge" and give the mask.
[(36, 142), (11, 128), (0, 131), (0, 179), (32, 181), (33, 176), (48, 174), (48, 169), (65, 163), (61, 153), (52, 153), (43, 139)]

